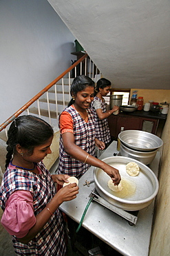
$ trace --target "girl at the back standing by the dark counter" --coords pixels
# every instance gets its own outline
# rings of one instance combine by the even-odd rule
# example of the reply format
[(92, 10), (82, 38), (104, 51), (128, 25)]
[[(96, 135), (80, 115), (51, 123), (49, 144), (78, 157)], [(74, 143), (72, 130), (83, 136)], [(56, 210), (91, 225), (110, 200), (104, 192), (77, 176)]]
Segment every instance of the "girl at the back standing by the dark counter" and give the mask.
[(100, 78), (96, 84), (94, 92), (94, 95), (96, 95), (91, 104), (96, 122), (96, 138), (102, 140), (105, 143), (106, 148), (109, 146), (109, 143), (111, 143), (107, 118), (119, 109), (117, 106), (114, 106), (113, 109), (109, 111), (106, 109), (106, 102), (103, 96), (106, 96), (109, 93), (110, 88), (111, 82), (105, 78)]

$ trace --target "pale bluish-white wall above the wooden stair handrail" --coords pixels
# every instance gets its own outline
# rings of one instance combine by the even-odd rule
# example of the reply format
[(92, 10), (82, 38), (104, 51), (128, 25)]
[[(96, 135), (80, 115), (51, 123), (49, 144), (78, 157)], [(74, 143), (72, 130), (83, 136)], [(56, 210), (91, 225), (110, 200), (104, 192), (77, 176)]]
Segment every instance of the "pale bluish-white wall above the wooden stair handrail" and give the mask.
[(74, 36), (46, 0), (0, 1), (0, 125), (75, 60)]

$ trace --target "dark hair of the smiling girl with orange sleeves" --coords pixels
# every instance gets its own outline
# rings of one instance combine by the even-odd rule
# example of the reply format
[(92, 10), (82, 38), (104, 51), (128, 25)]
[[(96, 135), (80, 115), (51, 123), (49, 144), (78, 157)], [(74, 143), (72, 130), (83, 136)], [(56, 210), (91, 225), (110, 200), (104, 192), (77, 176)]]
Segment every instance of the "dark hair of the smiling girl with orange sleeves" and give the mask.
[[(72, 97), (78, 93), (78, 91), (83, 91), (87, 86), (95, 86), (94, 81), (88, 77), (87, 75), (78, 75), (77, 77), (74, 78), (71, 89), (70, 89), (70, 94)], [(74, 103), (74, 99), (70, 100), (68, 107), (70, 107)]]

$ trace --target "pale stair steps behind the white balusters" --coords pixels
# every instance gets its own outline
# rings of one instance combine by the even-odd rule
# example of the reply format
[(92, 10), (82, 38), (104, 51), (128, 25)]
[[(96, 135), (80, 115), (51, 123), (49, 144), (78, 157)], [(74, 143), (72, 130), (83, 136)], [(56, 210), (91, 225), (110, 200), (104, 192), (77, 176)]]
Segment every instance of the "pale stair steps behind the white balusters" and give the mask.
[[(72, 84), (74, 78), (63, 78), (56, 82), (54, 86), (52, 86), (47, 93), (44, 93), (39, 98), (39, 107), (37, 102), (34, 102), (27, 111), (23, 111), (21, 116), (27, 115), (28, 113), (33, 116), (38, 116), (45, 120), (46, 122), (52, 125), (54, 129), (54, 139), (52, 141), (51, 149), (52, 154), (46, 156), (43, 160), (45, 166), (48, 170), (52, 167), (55, 163), (57, 158), (59, 158), (59, 114), (67, 107), (67, 104), (70, 102), (70, 84)], [(69, 84), (70, 82), (70, 84)], [(57, 105), (56, 105), (57, 102)], [(50, 109), (50, 110), (49, 110)], [(56, 113), (57, 110), (57, 113)], [(49, 111), (50, 111), (50, 118), (49, 118)], [(40, 114), (39, 114), (40, 112)], [(9, 129), (10, 125), (7, 127)], [(3, 172), (5, 171), (5, 164), (6, 164), (6, 131), (0, 132), (0, 182)]]

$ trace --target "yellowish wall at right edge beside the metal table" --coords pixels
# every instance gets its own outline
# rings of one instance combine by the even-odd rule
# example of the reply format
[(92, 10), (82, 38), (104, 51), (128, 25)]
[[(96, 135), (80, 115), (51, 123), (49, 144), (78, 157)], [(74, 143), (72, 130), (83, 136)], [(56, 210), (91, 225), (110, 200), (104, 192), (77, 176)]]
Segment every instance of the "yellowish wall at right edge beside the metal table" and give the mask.
[(159, 192), (156, 199), (155, 222), (151, 236), (149, 256), (170, 255), (170, 111), (164, 125), (162, 140), (164, 142), (162, 152), (162, 164), (159, 172)]

